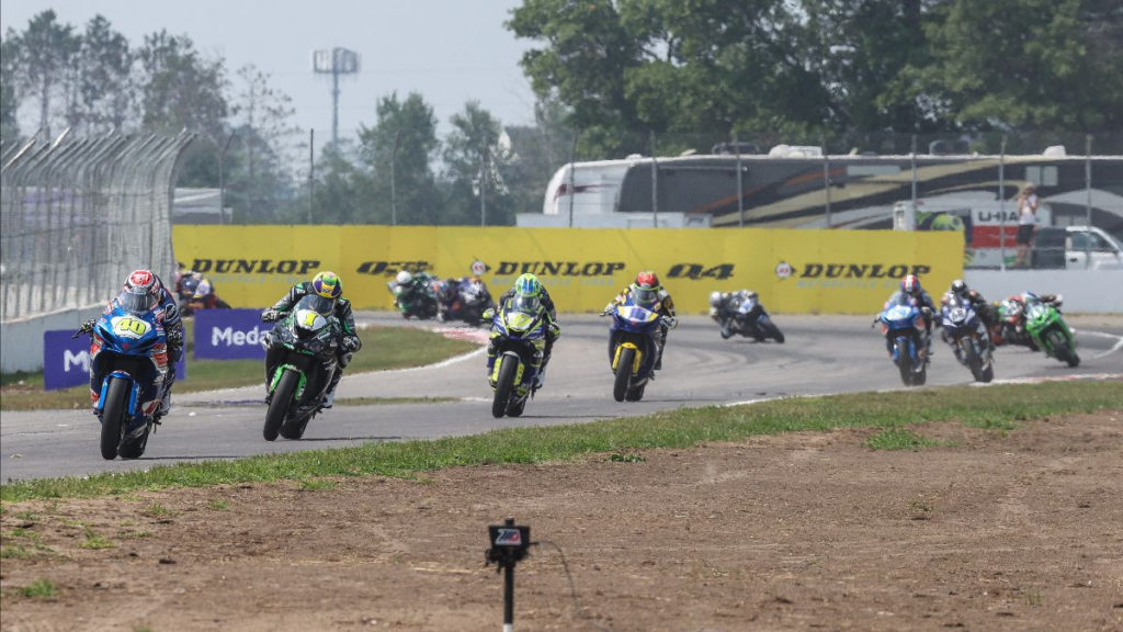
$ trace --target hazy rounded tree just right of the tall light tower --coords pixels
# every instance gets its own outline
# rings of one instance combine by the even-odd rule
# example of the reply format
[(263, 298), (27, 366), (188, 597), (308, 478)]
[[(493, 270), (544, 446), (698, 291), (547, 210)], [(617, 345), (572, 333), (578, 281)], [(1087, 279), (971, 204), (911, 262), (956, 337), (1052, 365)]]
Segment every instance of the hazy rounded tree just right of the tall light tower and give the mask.
[(377, 123), (362, 126), (359, 154), (373, 170), (366, 220), (378, 224), (436, 224), (440, 196), (432, 172), (437, 117), (421, 94), (404, 101), (392, 93), (378, 101)]

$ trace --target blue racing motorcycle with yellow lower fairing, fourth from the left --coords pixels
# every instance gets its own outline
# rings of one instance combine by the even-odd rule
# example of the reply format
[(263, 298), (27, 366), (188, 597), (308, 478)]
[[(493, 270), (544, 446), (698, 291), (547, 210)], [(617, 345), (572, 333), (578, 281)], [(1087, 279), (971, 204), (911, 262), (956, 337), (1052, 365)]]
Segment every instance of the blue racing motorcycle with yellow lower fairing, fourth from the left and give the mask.
[(612, 398), (617, 401), (639, 401), (647, 382), (655, 377), (659, 354), (656, 335), (664, 319), (656, 312), (658, 295), (638, 289), (627, 299), (611, 306), (601, 316), (612, 316), (609, 325), (609, 362), (614, 381)]

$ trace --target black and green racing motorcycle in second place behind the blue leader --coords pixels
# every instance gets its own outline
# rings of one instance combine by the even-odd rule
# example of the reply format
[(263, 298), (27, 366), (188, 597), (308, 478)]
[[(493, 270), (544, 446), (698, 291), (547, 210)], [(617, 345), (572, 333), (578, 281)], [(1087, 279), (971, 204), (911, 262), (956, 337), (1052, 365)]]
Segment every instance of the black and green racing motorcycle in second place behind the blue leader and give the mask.
[(339, 322), (329, 298), (308, 295), (262, 336), (268, 395), (265, 441), (277, 434), (300, 439), (323, 409), (323, 397), (338, 370)]

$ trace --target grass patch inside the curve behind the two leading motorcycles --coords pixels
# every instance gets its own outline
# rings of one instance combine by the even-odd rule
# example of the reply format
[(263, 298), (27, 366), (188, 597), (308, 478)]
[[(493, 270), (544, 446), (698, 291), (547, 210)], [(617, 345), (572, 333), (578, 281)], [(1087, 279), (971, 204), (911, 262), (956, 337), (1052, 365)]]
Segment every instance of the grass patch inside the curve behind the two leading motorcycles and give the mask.
[[(186, 328), (189, 332), (192, 327)], [(359, 329), (363, 350), (347, 367), (347, 374), (421, 367), (467, 353), (478, 345), (413, 327)], [(197, 392), (263, 383), (261, 360), (192, 360), (188, 340), (188, 378), (176, 380), (175, 392)], [(85, 386), (44, 390), (43, 373), (6, 373), (0, 381), (0, 410), (47, 410), (90, 406)]]

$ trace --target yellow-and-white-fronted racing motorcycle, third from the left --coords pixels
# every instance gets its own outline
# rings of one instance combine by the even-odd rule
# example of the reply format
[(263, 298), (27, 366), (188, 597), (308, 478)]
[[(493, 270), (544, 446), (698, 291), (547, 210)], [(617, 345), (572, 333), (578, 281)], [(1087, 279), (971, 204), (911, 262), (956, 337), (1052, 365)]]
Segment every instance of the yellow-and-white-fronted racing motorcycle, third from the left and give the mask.
[(492, 415), (518, 417), (533, 397), (538, 371), (533, 360), (546, 349), (546, 313), (538, 297), (513, 296), (499, 309), (487, 309), (483, 319), (491, 320), (491, 344), (495, 347), (495, 364), (489, 382), (495, 391)]

